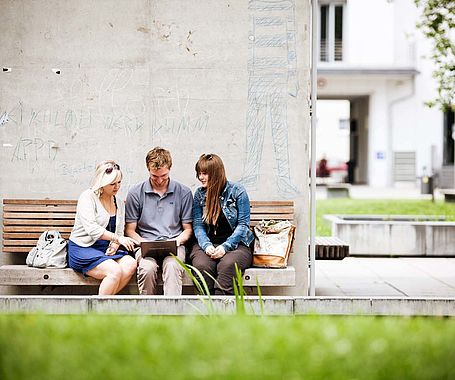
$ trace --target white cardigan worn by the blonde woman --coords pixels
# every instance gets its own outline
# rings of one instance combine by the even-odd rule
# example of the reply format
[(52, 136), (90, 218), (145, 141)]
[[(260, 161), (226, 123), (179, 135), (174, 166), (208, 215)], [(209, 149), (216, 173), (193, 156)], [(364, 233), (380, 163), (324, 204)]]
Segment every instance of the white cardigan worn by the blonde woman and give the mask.
[[(85, 190), (77, 201), (76, 220), (70, 240), (81, 247), (90, 247), (106, 231), (110, 215), (91, 189)], [(125, 202), (117, 199), (115, 233), (123, 236), (125, 228)]]

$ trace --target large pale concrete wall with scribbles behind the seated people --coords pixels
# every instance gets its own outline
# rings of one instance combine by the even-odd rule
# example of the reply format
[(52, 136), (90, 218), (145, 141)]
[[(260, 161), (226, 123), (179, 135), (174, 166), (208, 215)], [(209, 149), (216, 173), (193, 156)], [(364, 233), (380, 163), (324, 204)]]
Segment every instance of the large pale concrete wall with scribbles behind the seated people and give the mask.
[(250, 198), (296, 201), (304, 294), (309, 15), (295, 0), (3, 1), (1, 197), (76, 198), (104, 159), (126, 195), (156, 145), (194, 190), (216, 152)]

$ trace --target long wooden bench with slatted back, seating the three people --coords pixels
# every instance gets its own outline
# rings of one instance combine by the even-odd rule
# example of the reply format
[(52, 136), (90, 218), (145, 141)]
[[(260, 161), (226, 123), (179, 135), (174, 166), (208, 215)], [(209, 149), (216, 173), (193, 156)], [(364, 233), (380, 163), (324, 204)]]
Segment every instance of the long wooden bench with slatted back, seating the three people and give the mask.
[[(25, 265), (25, 258), (43, 231), (57, 229), (68, 239), (74, 224), (76, 200), (4, 199), (3, 252), (14, 254), (19, 265), (0, 267), (0, 285), (98, 285), (99, 280), (85, 277), (70, 268), (38, 269)], [(292, 201), (252, 201), (251, 226), (261, 220), (294, 220)], [(245, 286), (295, 286), (295, 269), (249, 268), (245, 271)], [(134, 284), (135, 280), (132, 281)], [(185, 286), (193, 285), (184, 276)]]

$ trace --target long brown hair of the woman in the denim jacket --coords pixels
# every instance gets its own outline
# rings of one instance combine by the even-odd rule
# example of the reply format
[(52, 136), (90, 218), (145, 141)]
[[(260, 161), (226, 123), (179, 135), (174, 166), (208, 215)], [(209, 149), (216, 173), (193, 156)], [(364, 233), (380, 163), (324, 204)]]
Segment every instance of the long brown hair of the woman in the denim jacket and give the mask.
[(199, 173), (208, 176), (203, 219), (205, 223), (215, 225), (221, 212), (220, 195), (227, 182), (223, 161), (216, 154), (203, 154), (196, 162), (195, 169), (196, 178)]

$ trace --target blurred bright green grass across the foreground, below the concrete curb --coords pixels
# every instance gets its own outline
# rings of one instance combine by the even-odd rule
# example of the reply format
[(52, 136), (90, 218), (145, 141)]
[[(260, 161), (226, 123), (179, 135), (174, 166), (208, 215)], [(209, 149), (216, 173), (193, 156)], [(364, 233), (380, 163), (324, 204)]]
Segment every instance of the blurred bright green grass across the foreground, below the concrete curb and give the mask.
[(453, 379), (455, 319), (0, 315), (0, 379)]

